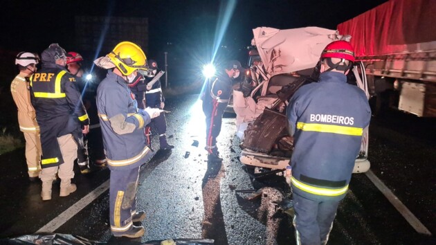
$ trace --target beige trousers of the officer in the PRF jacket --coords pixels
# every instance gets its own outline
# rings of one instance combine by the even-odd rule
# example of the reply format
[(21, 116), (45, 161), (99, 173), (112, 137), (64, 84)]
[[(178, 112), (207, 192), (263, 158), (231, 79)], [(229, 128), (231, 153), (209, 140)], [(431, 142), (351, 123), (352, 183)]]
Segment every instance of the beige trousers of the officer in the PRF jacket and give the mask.
[(73, 165), (75, 158), (77, 158), (78, 145), (75, 143), (75, 140), (71, 134), (58, 137), (57, 143), (59, 143), (62, 158), (64, 158), (64, 163), (55, 167), (43, 168), (39, 173), (39, 179), (41, 179), (43, 182), (56, 179), (56, 173), (60, 179), (74, 178)]

